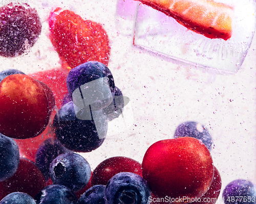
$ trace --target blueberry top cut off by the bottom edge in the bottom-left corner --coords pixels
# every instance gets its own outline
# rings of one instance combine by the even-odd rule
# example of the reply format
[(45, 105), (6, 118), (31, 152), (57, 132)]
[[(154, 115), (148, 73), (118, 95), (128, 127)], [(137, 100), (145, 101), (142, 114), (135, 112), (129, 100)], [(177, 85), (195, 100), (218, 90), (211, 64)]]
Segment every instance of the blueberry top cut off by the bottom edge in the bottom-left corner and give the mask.
[(34, 198), (32, 198), (27, 193), (23, 192), (14, 192), (5, 196), (0, 204), (36, 204)]

